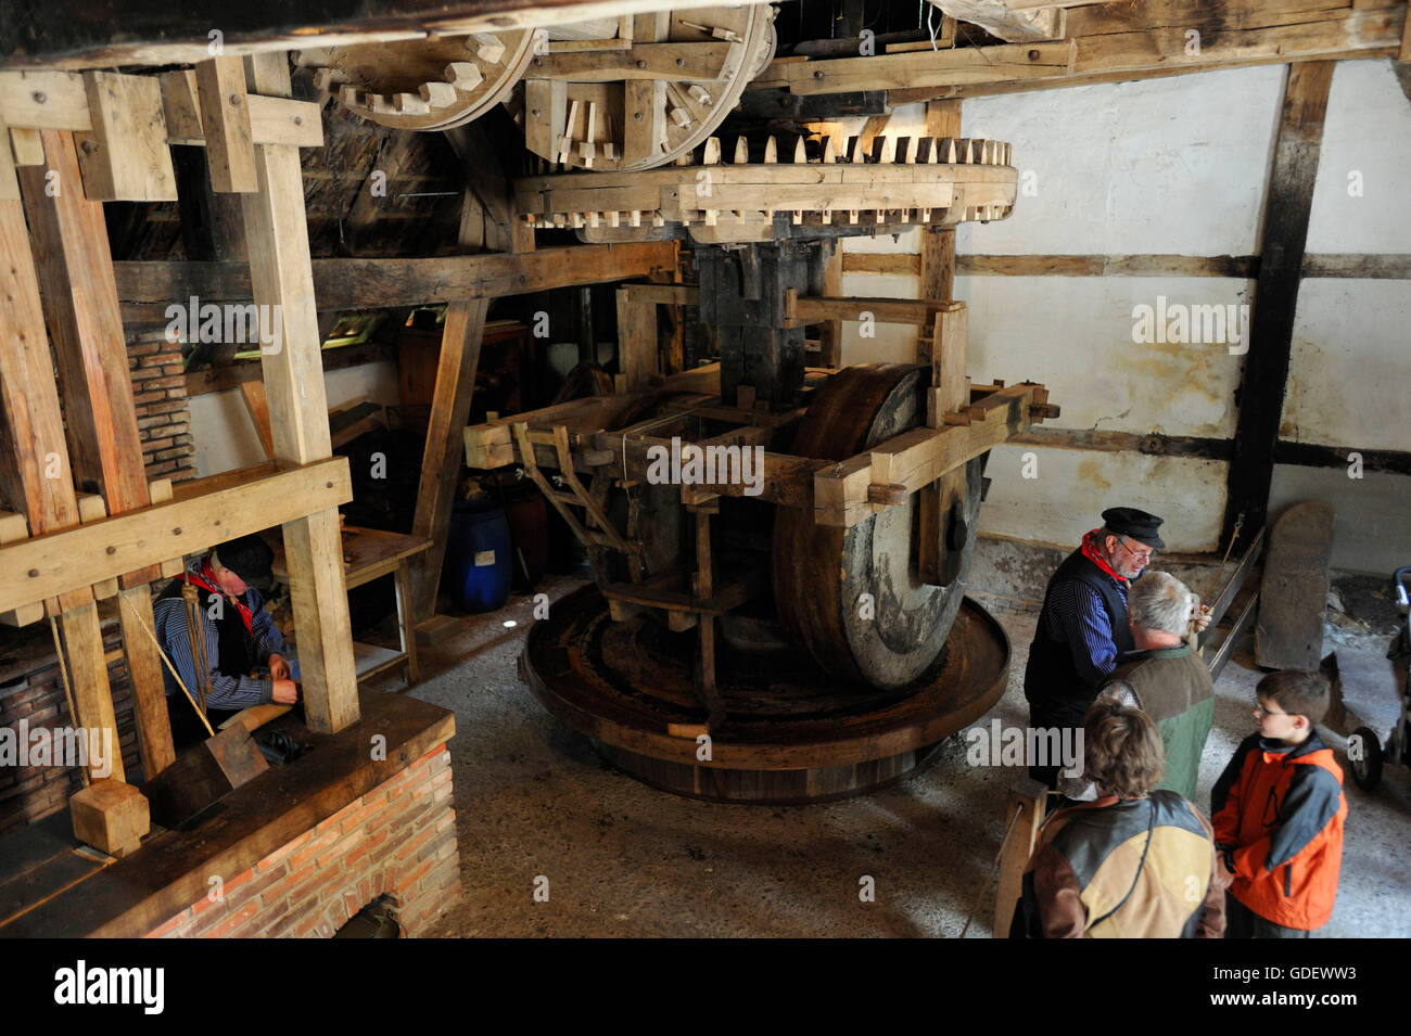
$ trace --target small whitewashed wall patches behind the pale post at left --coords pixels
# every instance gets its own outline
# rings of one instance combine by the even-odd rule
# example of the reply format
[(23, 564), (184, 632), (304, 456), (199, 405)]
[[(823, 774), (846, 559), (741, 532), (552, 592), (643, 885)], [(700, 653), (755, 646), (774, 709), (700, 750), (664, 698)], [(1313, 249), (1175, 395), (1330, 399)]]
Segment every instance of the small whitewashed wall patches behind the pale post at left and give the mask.
[[(387, 406), (398, 402), (396, 364), (392, 362), (329, 371), (323, 375), (323, 385), (329, 409), (363, 396)], [(265, 460), (254, 421), (236, 390), (192, 396), (190, 428), (198, 476), (247, 468)]]

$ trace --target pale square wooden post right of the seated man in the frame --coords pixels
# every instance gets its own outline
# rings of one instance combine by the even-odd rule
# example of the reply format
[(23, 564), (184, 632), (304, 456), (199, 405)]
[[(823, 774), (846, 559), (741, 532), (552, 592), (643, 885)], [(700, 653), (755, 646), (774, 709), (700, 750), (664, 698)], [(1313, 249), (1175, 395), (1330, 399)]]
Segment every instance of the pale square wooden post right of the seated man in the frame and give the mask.
[[(251, 93), (291, 93), (282, 52), (246, 58), (246, 75)], [(274, 458), (308, 464), (332, 457), (332, 448), (299, 149), (261, 144), (254, 151), (257, 190), (241, 195), (241, 204), (254, 300), (281, 334), (278, 343), (261, 343), (260, 357)], [(337, 509), (285, 524), (284, 550), (305, 713), (310, 729), (337, 733), (358, 717)]]

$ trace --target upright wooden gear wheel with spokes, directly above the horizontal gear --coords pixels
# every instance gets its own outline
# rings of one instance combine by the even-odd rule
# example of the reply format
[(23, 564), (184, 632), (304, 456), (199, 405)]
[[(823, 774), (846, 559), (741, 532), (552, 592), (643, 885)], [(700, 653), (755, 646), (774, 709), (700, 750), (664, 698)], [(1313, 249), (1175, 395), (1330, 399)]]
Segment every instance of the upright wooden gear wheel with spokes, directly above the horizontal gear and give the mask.
[(526, 147), (595, 172), (676, 161), (773, 58), (773, 17), (769, 4), (700, 7), (622, 18), (614, 39), (550, 42), (516, 87)]

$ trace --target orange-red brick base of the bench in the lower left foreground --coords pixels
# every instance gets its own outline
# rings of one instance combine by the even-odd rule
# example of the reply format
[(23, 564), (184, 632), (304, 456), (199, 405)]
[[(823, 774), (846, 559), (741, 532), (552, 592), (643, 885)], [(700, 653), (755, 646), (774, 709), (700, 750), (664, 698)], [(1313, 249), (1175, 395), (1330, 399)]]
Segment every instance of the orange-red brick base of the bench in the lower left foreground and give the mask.
[(460, 899), (450, 792), (440, 744), (254, 867), (212, 875), (219, 895), (212, 887), (148, 937), (329, 937), (384, 894), (419, 936)]

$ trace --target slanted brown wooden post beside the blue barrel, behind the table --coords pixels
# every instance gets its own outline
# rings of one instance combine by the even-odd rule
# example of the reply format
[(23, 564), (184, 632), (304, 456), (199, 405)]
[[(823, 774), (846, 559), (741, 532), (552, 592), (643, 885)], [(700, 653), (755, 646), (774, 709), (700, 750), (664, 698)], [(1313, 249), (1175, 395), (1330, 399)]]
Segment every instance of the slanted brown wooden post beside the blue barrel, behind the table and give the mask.
[[(463, 247), (478, 249), (471, 241), (481, 220), (481, 206), (470, 190), (460, 211)], [(436, 362), (436, 389), (426, 426), (426, 451), (422, 476), (416, 485), (416, 514), (412, 534), (425, 536), (430, 545), (411, 561), (412, 624), (419, 626), (436, 615), (436, 589), (446, 561), (446, 536), (456, 482), (466, 457), (466, 424), (470, 421), (470, 397), (480, 365), (480, 343), (485, 331), (488, 299), (461, 299), (446, 304), (440, 358)]]

